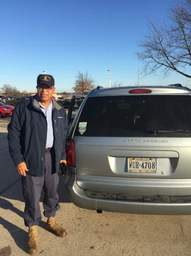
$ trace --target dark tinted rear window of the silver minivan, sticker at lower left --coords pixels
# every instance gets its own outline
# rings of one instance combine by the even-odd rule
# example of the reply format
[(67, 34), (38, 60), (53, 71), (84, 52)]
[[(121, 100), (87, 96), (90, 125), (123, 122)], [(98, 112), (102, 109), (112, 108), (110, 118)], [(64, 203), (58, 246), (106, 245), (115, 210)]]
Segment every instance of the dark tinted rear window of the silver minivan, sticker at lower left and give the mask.
[[(181, 131), (168, 132), (177, 130)], [(191, 137), (191, 97), (189, 95), (89, 97), (76, 125), (75, 135)]]

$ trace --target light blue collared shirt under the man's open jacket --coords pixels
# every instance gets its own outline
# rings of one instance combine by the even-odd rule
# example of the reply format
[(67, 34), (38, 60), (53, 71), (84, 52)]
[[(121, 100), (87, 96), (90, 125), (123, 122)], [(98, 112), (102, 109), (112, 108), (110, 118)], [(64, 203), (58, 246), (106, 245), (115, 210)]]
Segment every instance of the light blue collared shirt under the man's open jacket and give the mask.
[(50, 105), (47, 107), (47, 109), (42, 106), (40, 101), (38, 101), (39, 106), (41, 107), (42, 112), (44, 113), (46, 119), (47, 119), (47, 147), (53, 147), (54, 143), (54, 132), (53, 132), (53, 119), (52, 119), (52, 113), (53, 113), (53, 103), (50, 100)]

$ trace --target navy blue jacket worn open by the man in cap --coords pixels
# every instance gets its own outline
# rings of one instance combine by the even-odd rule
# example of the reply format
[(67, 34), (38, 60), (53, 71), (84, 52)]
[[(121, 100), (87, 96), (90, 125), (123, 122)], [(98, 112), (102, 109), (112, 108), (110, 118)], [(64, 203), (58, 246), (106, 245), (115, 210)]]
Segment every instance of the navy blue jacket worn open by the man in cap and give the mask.
[[(66, 159), (67, 115), (66, 110), (53, 98), (53, 132), (55, 167), (59, 171), (61, 159)], [(26, 162), (27, 174), (43, 176), (45, 169), (45, 147), (47, 120), (39, 107), (37, 95), (21, 102), (13, 111), (8, 124), (8, 143), (14, 164)]]

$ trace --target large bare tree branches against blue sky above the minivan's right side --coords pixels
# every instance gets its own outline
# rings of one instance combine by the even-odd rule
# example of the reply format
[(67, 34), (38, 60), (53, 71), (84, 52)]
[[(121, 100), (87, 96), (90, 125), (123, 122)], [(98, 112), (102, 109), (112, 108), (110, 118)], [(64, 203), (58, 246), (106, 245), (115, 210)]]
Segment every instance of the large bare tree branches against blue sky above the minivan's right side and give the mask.
[(138, 45), (141, 51), (137, 58), (143, 61), (143, 72), (161, 70), (164, 77), (174, 70), (183, 76), (191, 65), (191, 0), (172, 5), (167, 22), (155, 25), (149, 22), (149, 34)]

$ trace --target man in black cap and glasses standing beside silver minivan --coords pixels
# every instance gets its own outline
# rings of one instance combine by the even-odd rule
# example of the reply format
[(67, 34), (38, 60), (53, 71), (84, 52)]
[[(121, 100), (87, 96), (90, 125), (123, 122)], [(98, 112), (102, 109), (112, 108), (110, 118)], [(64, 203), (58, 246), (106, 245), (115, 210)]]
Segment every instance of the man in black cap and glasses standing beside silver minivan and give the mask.
[(66, 111), (52, 97), (55, 91), (53, 76), (39, 75), (36, 88), (34, 97), (16, 107), (8, 125), (10, 154), (22, 176), (29, 254), (36, 254), (38, 249), (36, 226), (41, 221), (39, 200), (42, 188), (47, 230), (56, 236), (66, 236), (55, 218), (60, 208), (57, 194), (59, 165), (61, 162), (66, 164)]

